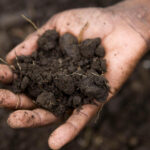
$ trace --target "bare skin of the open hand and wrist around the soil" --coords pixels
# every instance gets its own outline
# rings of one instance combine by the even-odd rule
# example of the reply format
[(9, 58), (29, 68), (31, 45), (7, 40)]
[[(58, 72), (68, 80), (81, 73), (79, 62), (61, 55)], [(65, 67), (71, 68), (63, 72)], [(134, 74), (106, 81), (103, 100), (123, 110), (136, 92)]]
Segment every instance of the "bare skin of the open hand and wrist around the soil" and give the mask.
[[(88, 22), (82, 39), (94, 37), (102, 39), (102, 45), (106, 49), (105, 58), (108, 66), (105, 77), (111, 87), (111, 93), (108, 97), (110, 100), (148, 49), (150, 40), (149, 7), (149, 0), (127, 0), (105, 9), (86, 8), (62, 12), (55, 15), (42, 28), (15, 47), (7, 55), (6, 60), (11, 64), (16, 54), (30, 55), (37, 48), (36, 41), (39, 35), (47, 29), (55, 28), (61, 35), (70, 32), (79, 37), (82, 28)], [(15, 76), (8, 66), (0, 65), (0, 81), (9, 83), (13, 78)], [(43, 126), (58, 120), (52, 113), (36, 108), (25, 95), (21, 94), (19, 97), (20, 99), (10, 91), (0, 90), (0, 107), (22, 109), (10, 114), (8, 124), (12, 128)], [(74, 110), (66, 122), (50, 135), (49, 146), (52, 149), (60, 149), (70, 142), (97, 114), (103, 104), (99, 103), (98, 105), (98, 107), (84, 105), (80, 112)]]

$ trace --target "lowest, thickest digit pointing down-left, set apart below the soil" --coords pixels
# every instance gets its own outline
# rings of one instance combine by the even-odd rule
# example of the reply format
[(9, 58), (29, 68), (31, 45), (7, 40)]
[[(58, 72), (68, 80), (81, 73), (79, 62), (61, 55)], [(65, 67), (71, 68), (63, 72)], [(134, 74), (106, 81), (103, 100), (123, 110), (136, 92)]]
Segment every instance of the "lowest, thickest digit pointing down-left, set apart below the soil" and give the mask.
[(52, 149), (60, 149), (70, 142), (100, 108), (96, 105), (84, 105), (79, 112), (75, 110), (66, 123), (51, 134), (48, 140), (49, 146)]

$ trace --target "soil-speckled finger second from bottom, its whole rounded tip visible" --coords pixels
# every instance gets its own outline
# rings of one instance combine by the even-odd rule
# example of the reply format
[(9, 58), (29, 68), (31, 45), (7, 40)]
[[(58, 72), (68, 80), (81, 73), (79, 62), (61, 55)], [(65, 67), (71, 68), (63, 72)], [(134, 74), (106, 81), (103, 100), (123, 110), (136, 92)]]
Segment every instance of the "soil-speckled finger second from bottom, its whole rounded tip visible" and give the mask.
[(12, 128), (29, 128), (44, 126), (55, 122), (57, 118), (44, 109), (18, 110), (13, 112), (7, 122)]

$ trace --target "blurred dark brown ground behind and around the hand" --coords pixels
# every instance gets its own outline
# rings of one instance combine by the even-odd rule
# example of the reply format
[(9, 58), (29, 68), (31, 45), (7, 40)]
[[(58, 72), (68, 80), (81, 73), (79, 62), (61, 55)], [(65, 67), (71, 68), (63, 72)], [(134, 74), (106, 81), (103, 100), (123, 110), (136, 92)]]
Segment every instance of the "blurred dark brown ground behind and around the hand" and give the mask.
[[(0, 0), (0, 57), (53, 14), (71, 8), (106, 7), (119, 0)], [(1, 88), (1, 85), (0, 85)], [(119, 93), (62, 150), (150, 150), (150, 52), (139, 62)], [(0, 109), (0, 150), (48, 150), (47, 139), (57, 125), (34, 129), (11, 129), (11, 111)]]

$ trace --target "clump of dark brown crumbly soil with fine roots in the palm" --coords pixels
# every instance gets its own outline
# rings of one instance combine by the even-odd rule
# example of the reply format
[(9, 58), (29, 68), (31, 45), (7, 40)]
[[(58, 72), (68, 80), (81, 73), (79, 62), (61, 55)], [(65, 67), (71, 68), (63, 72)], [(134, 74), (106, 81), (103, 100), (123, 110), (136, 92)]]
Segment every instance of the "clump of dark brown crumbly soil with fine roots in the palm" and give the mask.
[(47, 30), (37, 41), (31, 56), (19, 56), (13, 70), (18, 78), (14, 93), (25, 93), (40, 107), (56, 116), (84, 104), (104, 102), (109, 93), (104, 48), (101, 39), (78, 42), (72, 34), (63, 36)]

